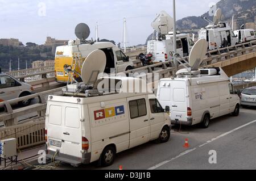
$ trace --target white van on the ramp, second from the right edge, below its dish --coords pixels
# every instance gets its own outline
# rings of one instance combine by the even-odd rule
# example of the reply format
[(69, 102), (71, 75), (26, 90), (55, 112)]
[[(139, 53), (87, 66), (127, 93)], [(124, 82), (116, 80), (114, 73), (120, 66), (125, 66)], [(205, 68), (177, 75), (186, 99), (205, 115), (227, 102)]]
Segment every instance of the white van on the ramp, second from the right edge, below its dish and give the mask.
[(227, 47), (238, 44), (238, 40), (228, 24), (220, 22), (217, 25), (209, 25), (199, 31), (199, 39), (207, 40), (208, 50), (224, 47), (224, 39)]

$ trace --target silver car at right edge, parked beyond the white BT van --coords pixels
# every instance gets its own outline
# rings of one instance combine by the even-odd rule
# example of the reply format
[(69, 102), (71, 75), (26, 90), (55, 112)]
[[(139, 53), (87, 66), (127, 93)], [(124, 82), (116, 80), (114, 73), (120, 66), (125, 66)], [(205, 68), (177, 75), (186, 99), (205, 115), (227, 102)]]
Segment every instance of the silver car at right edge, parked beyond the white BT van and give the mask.
[(246, 88), (241, 94), (242, 106), (256, 106), (256, 86)]

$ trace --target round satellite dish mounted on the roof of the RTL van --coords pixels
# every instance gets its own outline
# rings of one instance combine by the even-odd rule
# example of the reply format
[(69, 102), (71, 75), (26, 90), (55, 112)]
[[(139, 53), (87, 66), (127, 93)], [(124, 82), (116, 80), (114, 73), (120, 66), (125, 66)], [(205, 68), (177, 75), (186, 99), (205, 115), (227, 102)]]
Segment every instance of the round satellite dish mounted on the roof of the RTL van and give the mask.
[(94, 50), (82, 64), (81, 78), (86, 85), (93, 85), (98, 74), (103, 73), (106, 67), (106, 54), (102, 50)]

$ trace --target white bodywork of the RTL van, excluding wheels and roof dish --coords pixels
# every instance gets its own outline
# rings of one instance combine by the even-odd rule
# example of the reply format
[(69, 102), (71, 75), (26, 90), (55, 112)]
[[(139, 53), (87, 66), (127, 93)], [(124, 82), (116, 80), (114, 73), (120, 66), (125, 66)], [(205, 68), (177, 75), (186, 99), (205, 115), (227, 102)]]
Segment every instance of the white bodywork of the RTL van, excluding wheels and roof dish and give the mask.
[[(120, 79), (127, 81), (131, 78)], [(145, 114), (133, 118), (134, 107), (130, 102), (141, 99), (146, 106)], [(56, 159), (80, 165), (100, 159), (108, 145), (113, 145), (119, 153), (155, 140), (164, 126), (171, 126), (171, 119), (163, 111), (152, 112), (150, 100), (156, 101), (151, 91), (92, 97), (49, 95), (46, 130), (47, 150), (51, 153), (47, 154), (47, 158), (58, 151)], [(139, 106), (135, 109), (139, 110)], [(82, 150), (82, 137), (88, 140), (88, 150)], [(59, 146), (52, 145), (51, 140)]]

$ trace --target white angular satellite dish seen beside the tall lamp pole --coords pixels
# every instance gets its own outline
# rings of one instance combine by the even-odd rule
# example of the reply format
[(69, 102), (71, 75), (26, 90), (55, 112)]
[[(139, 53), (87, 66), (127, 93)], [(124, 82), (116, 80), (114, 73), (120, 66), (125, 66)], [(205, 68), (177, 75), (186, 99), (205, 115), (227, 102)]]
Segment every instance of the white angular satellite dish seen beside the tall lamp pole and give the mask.
[(172, 19), (172, 17), (166, 11), (161, 11), (151, 23), (151, 27), (162, 35), (168, 35), (168, 32), (172, 31), (174, 28), (173, 22), (174, 19)]

